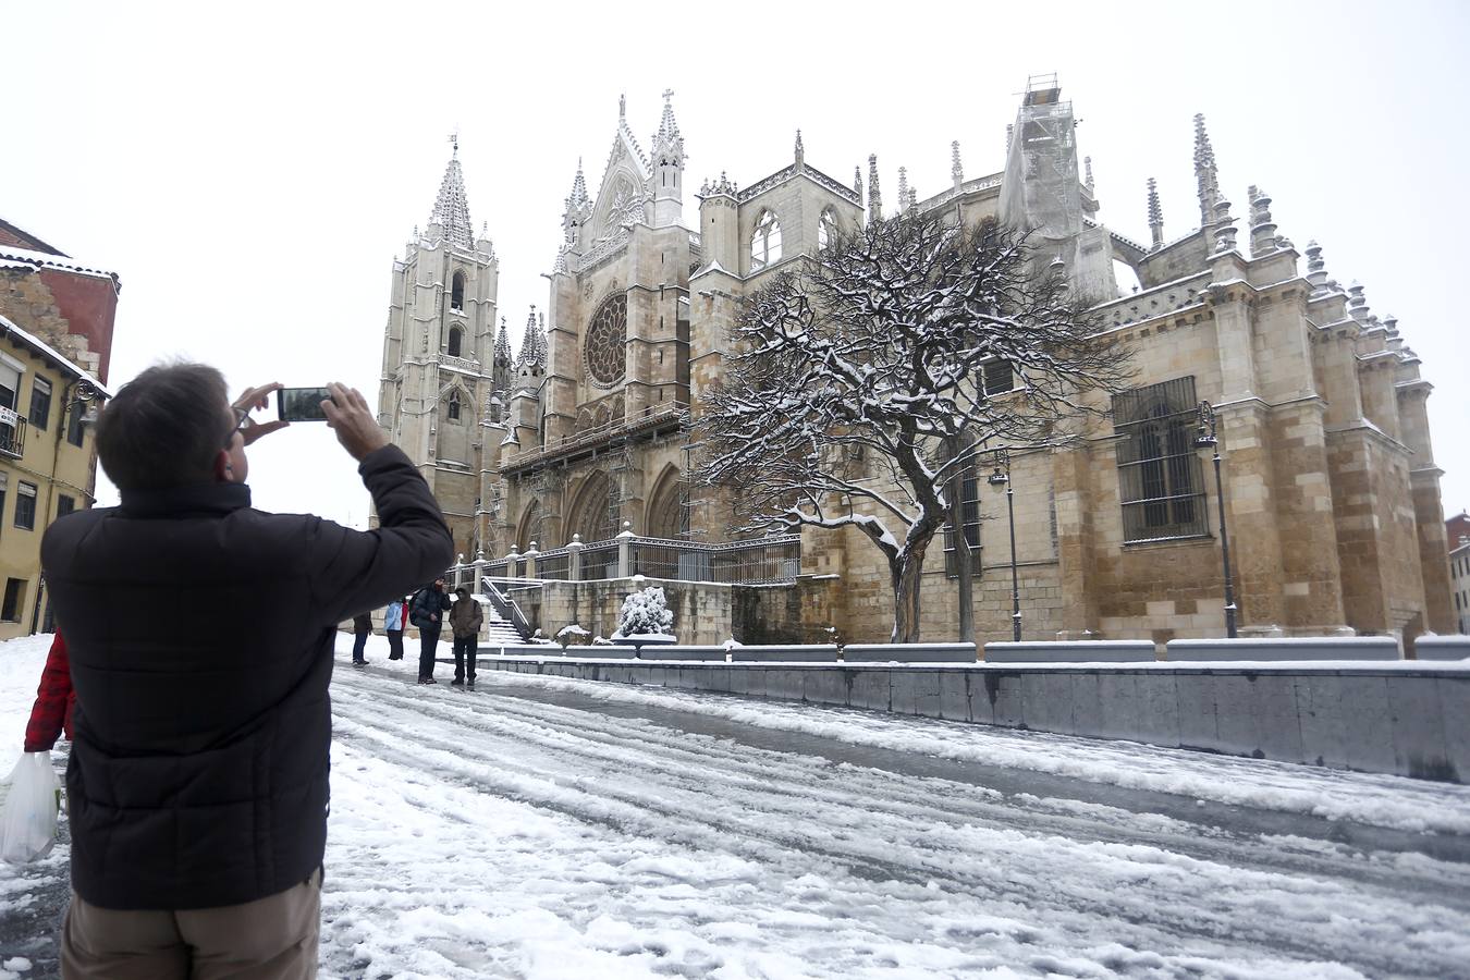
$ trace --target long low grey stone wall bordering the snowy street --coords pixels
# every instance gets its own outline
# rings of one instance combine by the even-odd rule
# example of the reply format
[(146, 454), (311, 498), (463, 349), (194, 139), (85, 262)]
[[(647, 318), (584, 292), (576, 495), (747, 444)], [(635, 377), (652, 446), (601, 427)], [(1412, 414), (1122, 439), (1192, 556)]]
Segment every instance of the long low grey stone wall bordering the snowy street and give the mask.
[(482, 654), (481, 667), (1470, 780), (1470, 669), (1449, 664), (613, 664)]

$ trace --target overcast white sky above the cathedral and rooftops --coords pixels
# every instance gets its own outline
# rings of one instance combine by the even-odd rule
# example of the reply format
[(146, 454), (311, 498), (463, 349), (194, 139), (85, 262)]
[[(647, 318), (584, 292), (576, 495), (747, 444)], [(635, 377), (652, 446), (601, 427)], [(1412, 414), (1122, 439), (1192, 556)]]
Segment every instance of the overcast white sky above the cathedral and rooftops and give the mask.
[[(892, 206), (900, 166), (920, 197), (948, 185), (951, 140), (966, 176), (1001, 169), (1016, 93), (1058, 72), (1107, 225), (1148, 239), (1150, 176), (1167, 237), (1198, 223), (1202, 112), (1235, 213), (1258, 184), (1280, 234), (1316, 238), (1333, 278), (1399, 317), (1436, 385), (1445, 511), (1470, 507), (1463, 3), (0, 0), (0, 217), (122, 276), (113, 388), (182, 356), (232, 388), (340, 379), (375, 403), (391, 263), (456, 126), (519, 344), (578, 157), (595, 188), (620, 93), (647, 150), (675, 90), (691, 190), (785, 166), (801, 128), (807, 162), (844, 182), (876, 153)], [(366, 522), (325, 428), (260, 442), (250, 482), (269, 510)]]

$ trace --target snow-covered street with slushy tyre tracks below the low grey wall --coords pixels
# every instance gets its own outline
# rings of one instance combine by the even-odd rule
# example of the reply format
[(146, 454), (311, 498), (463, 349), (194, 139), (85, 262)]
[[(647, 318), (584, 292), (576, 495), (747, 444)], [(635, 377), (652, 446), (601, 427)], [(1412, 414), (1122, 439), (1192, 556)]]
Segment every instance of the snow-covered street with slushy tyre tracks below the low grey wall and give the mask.
[[(328, 977), (1470, 976), (1467, 788), (350, 646)], [(0, 644), (16, 751), (44, 652)]]

